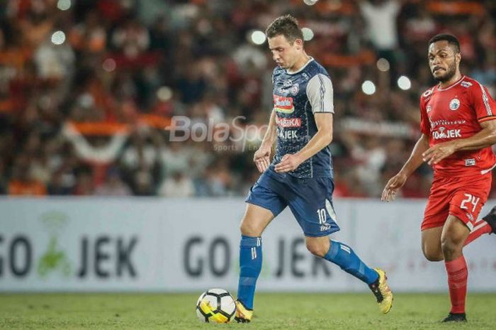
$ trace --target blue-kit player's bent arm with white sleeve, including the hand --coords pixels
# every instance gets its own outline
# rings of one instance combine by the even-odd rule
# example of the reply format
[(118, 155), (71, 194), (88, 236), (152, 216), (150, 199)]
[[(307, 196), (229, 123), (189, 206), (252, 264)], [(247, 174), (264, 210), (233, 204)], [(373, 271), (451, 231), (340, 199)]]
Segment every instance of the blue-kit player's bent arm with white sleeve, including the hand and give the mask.
[(307, 96), (312, 106), (317, 133), (298, 153), (286, 154), (274, 168), (276, 172), (291, 172), (332, 141), (334, 114), (332, 82), (326, 75), (315, 75), (307, 84)]

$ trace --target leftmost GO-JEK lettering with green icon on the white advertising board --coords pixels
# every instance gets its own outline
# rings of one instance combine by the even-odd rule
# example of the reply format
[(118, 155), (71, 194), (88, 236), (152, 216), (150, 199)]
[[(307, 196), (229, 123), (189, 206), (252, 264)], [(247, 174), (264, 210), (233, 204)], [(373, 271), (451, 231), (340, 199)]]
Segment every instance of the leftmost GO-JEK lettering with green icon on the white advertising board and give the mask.
[(0, 281), (32, 275), (43, 280), (52, 275), (67, 280), (138, 277), (137, 234), (86, 233), (86, 229), (79, 233), (81, 226), (69, 220), (62, 211), (47, 211), (40, 216), (41, 231), (26, 229), (13, 235), (0, 231)]

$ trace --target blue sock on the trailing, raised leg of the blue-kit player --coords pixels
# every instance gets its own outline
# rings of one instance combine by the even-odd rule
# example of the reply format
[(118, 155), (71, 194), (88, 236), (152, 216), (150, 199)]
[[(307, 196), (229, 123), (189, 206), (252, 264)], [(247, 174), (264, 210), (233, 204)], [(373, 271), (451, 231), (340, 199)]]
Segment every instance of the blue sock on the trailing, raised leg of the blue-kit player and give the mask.
[(331, 241), (331, 247), (324, 258), (341, 267), (346, 273), (366, 282), (368, 285), (378, 279), (378, 273), (375, 270), (368, 268), (367, 265), (360, 260), (358, 255), (356, 255), (349, 246), (346, 246), (343, 243)]

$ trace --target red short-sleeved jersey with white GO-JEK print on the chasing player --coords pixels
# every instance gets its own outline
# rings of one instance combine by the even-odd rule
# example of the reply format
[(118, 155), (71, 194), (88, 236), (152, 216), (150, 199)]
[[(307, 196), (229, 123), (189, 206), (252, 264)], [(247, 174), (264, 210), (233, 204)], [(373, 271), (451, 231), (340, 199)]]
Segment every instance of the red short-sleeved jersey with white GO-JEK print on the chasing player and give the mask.
[[(446, 88), (427, 89), (420, 97), (420, 129), (429, 145), (469, 138), (482, 130), (480, 123), (496, 119), (496, 102), (480, 82), (462, 76)], [(485, 174), (496, 165), (491, 147), (459, 151), (434, 165), (438, 175)]]

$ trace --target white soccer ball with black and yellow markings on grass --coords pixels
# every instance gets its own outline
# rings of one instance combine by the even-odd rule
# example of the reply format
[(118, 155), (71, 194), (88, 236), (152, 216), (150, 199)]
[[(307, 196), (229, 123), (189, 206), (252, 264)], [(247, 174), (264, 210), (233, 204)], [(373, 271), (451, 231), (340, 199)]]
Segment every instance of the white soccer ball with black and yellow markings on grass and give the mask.
[(209, 289), (196, 302), (196, 316), (203, 322), (227, 323), (235, 313), (235, 299), (223, 289)]

